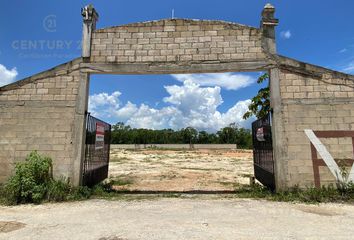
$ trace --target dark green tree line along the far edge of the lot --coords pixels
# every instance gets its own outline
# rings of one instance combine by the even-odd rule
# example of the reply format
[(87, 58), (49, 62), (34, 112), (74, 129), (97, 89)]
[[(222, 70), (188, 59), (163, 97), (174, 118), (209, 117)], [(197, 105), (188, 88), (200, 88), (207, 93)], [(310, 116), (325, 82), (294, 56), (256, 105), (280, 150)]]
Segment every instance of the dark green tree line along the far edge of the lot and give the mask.
[(252, 134), (249, 129), (230, 124), (217, 131), (208, 133), (187, 127), (173, 129), (131, 128), (122, 122), (112, 126), (112, 144), (237, 144), (238, 148), (252, 148)]

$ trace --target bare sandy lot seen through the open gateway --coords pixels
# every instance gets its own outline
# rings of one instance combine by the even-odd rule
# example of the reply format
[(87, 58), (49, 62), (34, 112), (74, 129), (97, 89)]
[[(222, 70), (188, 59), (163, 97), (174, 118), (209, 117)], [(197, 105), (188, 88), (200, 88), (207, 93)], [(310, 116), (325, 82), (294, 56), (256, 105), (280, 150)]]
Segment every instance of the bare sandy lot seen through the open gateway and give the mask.
[(247, 150), (112, 150), (109, 175), (117, 189), (229, 191), (253, 175)]

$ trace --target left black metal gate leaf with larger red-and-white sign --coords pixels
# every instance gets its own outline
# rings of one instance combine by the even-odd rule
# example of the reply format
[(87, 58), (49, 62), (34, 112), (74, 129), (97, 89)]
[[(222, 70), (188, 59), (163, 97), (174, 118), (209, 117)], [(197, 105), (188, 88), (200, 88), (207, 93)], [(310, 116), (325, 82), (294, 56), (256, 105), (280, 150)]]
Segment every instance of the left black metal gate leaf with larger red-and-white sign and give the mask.
[(93, 186), (108, 177), (111, 125), (90, 114), (86, 120), (82, 184)]

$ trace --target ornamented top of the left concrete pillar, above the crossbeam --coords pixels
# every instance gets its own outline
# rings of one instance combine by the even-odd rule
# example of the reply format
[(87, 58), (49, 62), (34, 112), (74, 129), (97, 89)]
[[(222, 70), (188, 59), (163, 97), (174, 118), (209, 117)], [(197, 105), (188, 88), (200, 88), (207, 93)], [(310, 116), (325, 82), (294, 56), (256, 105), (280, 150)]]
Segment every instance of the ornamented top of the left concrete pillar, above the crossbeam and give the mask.
[(90, 4), (81, 9), (83, 17), (82, 27), (82, 57), (88, 58), (91, 56), (91, 38), (92, 32), (96, 29), (96, 22), (98, 21), (98, 13)]

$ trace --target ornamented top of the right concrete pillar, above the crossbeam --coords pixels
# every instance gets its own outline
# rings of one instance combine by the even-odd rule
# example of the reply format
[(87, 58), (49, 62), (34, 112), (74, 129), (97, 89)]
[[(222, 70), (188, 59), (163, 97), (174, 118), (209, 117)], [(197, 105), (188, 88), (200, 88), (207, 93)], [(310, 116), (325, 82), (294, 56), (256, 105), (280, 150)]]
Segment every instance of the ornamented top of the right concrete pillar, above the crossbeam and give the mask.
[(275, 8), (267, 3), (262, 11), (261, 29), (263, 34), (263, 48), (271, 54), (277, 52), (275, 44), (275, 27), (279, 20), (274, 18)]

